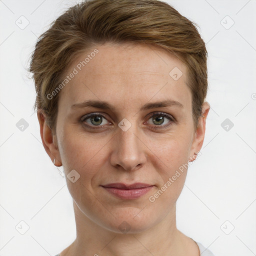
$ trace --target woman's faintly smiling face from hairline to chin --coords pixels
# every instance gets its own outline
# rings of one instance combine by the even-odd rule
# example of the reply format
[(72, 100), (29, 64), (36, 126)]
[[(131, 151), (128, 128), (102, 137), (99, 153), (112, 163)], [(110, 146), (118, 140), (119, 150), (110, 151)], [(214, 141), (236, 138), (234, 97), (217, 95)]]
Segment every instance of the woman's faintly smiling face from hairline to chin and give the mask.
[(138, 232), (173, 214), (184, 164), (200, 149), (204, 125), (193, 128), (187, 69), (180, 60), (156, 46), (95, 48), (66, 72), (77, 70), (59, 92), (47, 152), (62, 163), (80, 215), (114, 232), (123, 225)]

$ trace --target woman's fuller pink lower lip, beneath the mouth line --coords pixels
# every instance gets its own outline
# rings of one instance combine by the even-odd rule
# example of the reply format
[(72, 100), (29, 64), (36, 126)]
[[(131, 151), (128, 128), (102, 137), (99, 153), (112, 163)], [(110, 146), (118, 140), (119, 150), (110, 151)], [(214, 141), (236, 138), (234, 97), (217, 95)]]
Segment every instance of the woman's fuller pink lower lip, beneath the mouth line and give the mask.
[(144, 194), (146, 194), (153, 186), (133, 188), (133, 189), (120, 189), (115, 187), (105, 187), (108, 192), (114, 194), (121, 199), (136, 199)]

